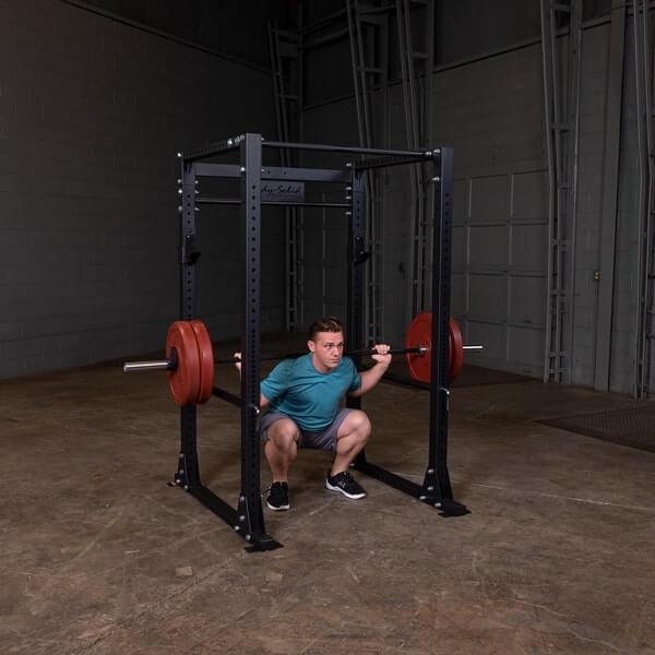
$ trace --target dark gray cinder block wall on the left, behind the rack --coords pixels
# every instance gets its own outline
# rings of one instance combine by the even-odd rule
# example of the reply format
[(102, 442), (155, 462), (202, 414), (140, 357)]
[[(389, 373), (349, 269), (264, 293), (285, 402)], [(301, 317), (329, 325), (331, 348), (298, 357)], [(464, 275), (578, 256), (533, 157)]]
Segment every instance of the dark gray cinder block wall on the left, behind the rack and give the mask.
[[(270, 73), (56, 0), (0, 15), (0, 377), (158, 350), (178, 313), (176, 153), (271, 134)], [(216, 216), (199, 218), (199, 312), (234, 337), (238, 219)], [(282, 330), (282, 223), (263, 233), (262, 327)]]

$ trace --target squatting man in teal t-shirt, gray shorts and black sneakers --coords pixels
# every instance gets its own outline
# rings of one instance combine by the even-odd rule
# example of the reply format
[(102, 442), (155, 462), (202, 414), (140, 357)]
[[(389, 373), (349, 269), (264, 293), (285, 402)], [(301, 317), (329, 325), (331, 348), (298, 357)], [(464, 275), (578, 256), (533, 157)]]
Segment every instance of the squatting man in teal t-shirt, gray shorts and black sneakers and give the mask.
[[(281, 361), (261, 383), (260, 406), (269, 412), (260, 428), (273, 475), (266, 504), (274, 511), (290, 507), (288, 471), (299, 448), (334, 451), (325, 488), (353, 500), (366, 496), (348, 467), (366, 445), (371, 422), (360, 409), (342, 408), (341, 403), (346, 393), (360, 396), (382, 379), (391, 364), (391, 348), (373, 346), (374, 366), (357, 372), (353, 360), (343, 356), (343, 325), (335, 317), (312, 323), (307, 346), (307, 355)], [(236, 366), (240, 374), (241, 364)]]

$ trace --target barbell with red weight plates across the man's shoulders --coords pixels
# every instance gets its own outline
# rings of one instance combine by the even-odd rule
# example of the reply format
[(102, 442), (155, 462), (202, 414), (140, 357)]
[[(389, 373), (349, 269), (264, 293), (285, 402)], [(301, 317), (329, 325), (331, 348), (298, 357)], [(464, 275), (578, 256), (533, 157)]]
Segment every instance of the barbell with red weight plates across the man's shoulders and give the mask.
[[(449, 377), (454, 380), (464, 362), (464, 350), (481, 350), (483, 346), (465, 346), (462, 332), (454, 319), (449, 321)], [(391, 355), (405, 355), (409, 374), (420, 382), (431, 380), (432, 314), (418, 314), (409, 324), (404, 348), (392, 348)], [(261, 361), (299, 357), (307, 353), (291, 353), (262, 357)], [(376, 355), (377, 350), (347, 350), (344, 356)], [(201, 405), (212, 397), (214, 389), (214, 365), (235, 364), (237, 357), (214, 359), (212, 338), (202, 321), (175, 321), (166, 335), (166, 359), (154, 361), (128, 361), (123, 372), (165, 370), (172, 400), (179, 406)]]

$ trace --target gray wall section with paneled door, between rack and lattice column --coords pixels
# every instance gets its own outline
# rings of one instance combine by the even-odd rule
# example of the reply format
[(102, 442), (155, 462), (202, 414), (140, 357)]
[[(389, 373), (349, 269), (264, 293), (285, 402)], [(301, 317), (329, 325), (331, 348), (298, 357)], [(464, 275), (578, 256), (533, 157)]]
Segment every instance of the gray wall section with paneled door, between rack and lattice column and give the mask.
[(547, 177), (540, 46), (434, 76), (434, 140), (455, 148), (452, 311), (481, 355), (539, 377), (544, 364)]

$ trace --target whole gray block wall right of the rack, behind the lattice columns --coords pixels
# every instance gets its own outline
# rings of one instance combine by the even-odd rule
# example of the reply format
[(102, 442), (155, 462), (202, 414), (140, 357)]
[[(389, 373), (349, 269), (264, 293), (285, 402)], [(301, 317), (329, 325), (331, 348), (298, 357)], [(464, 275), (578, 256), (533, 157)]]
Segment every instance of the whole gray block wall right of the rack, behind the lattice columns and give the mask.
[[(583, 29), (573, 295), (572, 382), (594, 386), (603, 242), (608, 22)], [(560, 38), (565, 51), (567, 37)], [(639, 170), (632, 20), (628, 21), (622, 91), (617, 253), (609, 389), (632, 391), (636, 317)], [(541, 46), (527, 45), (436, 74), (434, 134), (455, 147), (453, 313), (467, 357), (539, 378), (546, 322), (547, 167)], [(468, 91), (468, 93), (467, 93)], [(449, 105), (446, 98), (456, 98)], [(476, 207), (477, 201), (477, 207)], [(476, 235), (476, 233), (479, 233)]]

